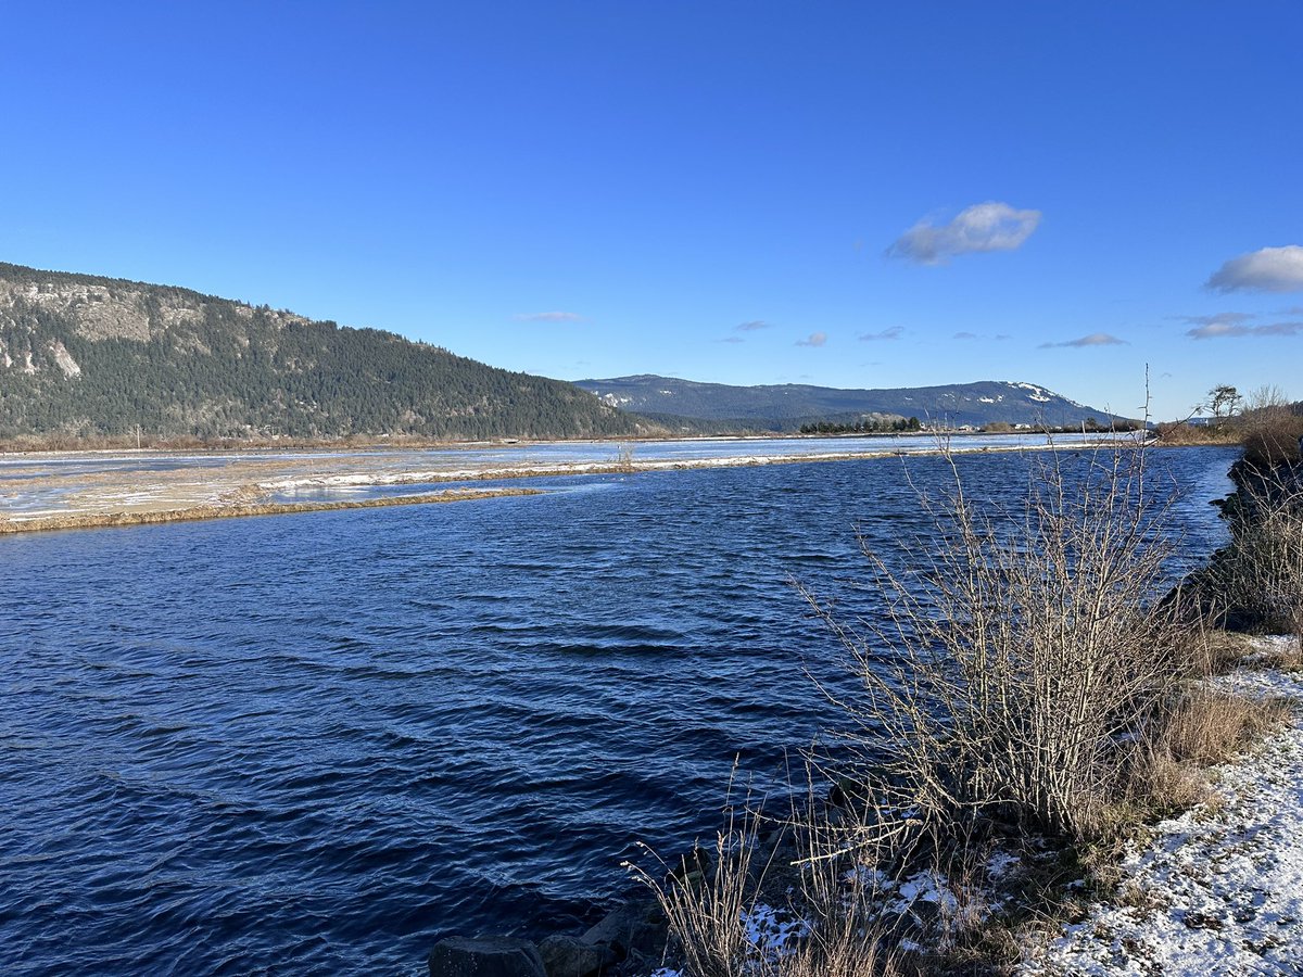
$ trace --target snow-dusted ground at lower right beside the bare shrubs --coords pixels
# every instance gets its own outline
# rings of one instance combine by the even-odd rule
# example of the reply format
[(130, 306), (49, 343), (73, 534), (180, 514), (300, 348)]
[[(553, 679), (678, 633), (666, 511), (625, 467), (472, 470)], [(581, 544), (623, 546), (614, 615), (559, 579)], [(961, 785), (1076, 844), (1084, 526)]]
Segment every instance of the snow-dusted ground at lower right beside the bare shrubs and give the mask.
[[(1269, 651), (1294, 640), (1260, 642)], [(1218, 681), (1303, 702), (1299, 673), (1239, 671)], [(1066, 926), (1020, 974), (1303, 974), (1303, 727), (1214, 776), (1210, 804), (1162, 822), (1130, 852), (1117, 904)]]

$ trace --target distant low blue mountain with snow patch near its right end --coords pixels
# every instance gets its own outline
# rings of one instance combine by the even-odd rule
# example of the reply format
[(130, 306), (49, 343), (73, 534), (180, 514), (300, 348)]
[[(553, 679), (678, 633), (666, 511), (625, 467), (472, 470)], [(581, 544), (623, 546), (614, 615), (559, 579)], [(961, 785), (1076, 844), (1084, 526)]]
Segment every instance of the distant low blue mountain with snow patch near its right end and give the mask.
[(981, 426), (1002, 421), (1058, 427), (1079, 426), (1092, 417), (1105, 425), (1115, 419), (1106, 410), (1078, 404), (1035, 383), (1005, 380), (942, 387), (838, 389), (799, 383), (731, 387), (644, 374), (609, 380), (577, 380), (576, 386), (592, 391), (611, 406), (658, 421), (685, 418), (688, 427), (724, 422), (758, 430), (795, 430), (803, 423), (846, 423), (873, 414), (946, 421), (955, 426)]

